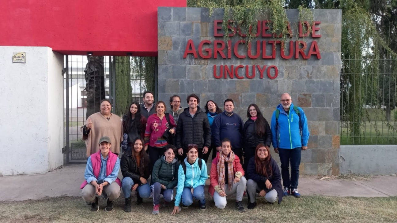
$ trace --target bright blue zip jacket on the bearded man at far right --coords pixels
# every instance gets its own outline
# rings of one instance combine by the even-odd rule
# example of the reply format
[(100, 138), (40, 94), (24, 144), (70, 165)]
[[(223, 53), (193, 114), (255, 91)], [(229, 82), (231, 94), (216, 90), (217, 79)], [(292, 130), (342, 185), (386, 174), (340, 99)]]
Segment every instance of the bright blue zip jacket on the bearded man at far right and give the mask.
[(278, 125), (276, 124), (276, 111), (272, 116), (272, 144), (274, 148), (293, 149), (307, 146), (309, 140), (309, 130), (307, 119), (303, 110), (298, 107), (301, 118), (293, 110), (294, 105), (291, 103), (289, 113), (284, 111), (281, 104), (277, 106), (280, 111), (278, 116)]

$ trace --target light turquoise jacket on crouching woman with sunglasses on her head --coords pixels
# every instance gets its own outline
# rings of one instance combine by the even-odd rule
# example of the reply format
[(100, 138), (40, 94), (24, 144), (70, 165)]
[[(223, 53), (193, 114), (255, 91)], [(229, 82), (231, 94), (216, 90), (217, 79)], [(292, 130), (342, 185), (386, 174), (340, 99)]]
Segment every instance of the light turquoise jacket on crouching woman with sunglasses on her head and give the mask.
[(193, 164), (190, 164), (185, 160), (182, 160), (186, 164), (186, 175), (183, 171), (182, 165), (179, 165), (178, 169), (178, 186), (176, 187), (175, 206), (179, 206), (181, 203), (181, 196), (184, 187), (195, 189), (197, 186), (205, 186), (205, 181), (208, 179), (207, 165), (204, 160), (201, 161), (201, 170), (198, 166), (198, 158)]

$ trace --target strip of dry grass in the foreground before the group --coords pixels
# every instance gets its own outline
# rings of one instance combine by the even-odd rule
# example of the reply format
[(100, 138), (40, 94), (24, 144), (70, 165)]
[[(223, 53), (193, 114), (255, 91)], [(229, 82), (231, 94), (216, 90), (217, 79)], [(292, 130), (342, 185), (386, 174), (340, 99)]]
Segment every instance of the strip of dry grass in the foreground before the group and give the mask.
[[(33, 188), (34, 189), (34, 188)], [(135, 201), (135, 197), (133, 198)], [(123, 211), (122, 198), (114, 203), (114, 210), (105, 212), (105, 201), (99, 202), (100, 210), (91, 212), (80, 197), (58, 197), (45, 200), (27, 200), (22, 202), (2, 202), (0, 204), (1, 222), (396, 222), (397, 198), (356, 198), (288, 196), (280, 205), (268, 204), (257, 199), (254, 210), (239, 213), (235, 210), (235, 200), (228, 198), (224, 210), (214, 206), (212, 199), (207, 199), (207, 210), (200, 211), (193, 203), (179, 214), (172, 216), (172, 206), (160, 207), (160, 215), (152, 215), (152, 200), (144, 199), (143, 205), (132, 202), (132, 211)], [(162, 200), (160, 201), (162, 203)], [(244, 206), (247, 207), (245, 197)]]

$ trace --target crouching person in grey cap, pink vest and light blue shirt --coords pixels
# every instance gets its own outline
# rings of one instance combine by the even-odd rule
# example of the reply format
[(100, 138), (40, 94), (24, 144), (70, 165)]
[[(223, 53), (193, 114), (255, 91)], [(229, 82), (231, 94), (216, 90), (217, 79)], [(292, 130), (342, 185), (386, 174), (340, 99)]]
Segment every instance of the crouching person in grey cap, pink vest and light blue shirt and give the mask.
[(113, 210), (113, 201), (120, 196), (120, 179), (117, 174), (120, 160), (110, 152), (110, 138), (104, 136), (99, 140), (99, 151), (92, 154), (85, 167), (85, 181), (81, 184), (81, 196), (91, 203), (91, 211), (98, 211), (98, 197), (104, 193), (106, 199), (105, 211)]

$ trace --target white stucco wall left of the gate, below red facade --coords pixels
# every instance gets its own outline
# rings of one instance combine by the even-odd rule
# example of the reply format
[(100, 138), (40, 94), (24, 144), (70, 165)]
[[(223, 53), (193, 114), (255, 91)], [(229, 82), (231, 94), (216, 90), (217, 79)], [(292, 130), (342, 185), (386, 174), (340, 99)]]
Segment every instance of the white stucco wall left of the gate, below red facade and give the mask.
[[(26, 63), (12, 63), (17, 52), (26, 52)], [(62, 67), (48, 47), (0, 46), (0, 175), (62, 165)]]

